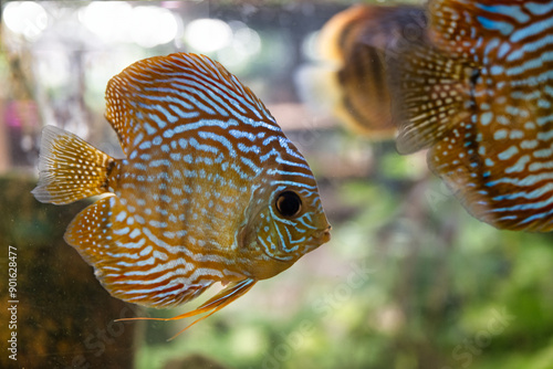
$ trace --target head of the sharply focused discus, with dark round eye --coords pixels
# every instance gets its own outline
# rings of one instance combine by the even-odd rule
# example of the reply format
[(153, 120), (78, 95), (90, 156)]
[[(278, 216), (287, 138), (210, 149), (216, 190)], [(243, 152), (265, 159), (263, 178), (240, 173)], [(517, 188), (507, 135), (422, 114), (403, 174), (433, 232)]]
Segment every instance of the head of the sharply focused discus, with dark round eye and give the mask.
[(281, 166), (252, 196), (263, 200), (250, 209), (241, 249), (252, 255), (249, 274), (258, 280), (279, 274), (331, 239), (315, 179), (305, 168), (309, 175)]

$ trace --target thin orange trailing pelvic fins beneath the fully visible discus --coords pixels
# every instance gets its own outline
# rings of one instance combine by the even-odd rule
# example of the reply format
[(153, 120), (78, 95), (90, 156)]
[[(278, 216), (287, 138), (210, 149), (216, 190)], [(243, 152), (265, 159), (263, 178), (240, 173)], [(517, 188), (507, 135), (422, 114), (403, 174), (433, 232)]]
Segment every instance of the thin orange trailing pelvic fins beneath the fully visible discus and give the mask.
[(251, 278), (247, 278), (247, 280), (243, 280), (240, 282), (232, 282), (225, 289), (222, 289), (217, 295), (215, 295), (213, 297), (208, 299), (206, 303), (200, 305), (198, 308), (196, 308), (191, 312), (175, 316), (173, 318), (142, 318), (142, 317), (138, 317), (138, 318), (125, 318), (125, 319), (118, 319), (118, 320), (164, 320), (164, 321), (168, 321), (168, 320), (185, 319), (185, 318), (189, 318), (189, 317), (197, 316), (200, 314), (209, 313), (209, 314), (206, 314), (205, 316), (194, 320), (191, 324), (189, 324), (182, 330), (180, 330), (175, 336), (169, 338), (169, 340), (171, 340), (175, 337), (177, 337), (178, 335), (180, 335), (181, 333), (184, 333), (185, 330), (187, 330), (188, 328), (190, 328), (191, 326), (194, 326), (196, 323), (201, 321), (205, 318), (213, 315), (215, 313), (222, 309), (225, 306), (234, 302), (240, 296), (243, 296), (248, 291), (250, 291), (251, 287), (253, 287), (253, 285), (255, 283), (257, 283), (257, 281), (251, 280)]

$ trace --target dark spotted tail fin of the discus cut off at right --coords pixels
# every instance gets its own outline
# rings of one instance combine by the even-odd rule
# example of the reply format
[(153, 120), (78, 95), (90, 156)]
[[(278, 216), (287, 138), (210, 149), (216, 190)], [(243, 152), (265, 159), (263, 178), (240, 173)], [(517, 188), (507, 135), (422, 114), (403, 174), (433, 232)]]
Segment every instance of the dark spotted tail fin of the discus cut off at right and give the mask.
[(473, 72), (469, 67), (427, 42), (408, 45), (392, 63), (392, 109), (399, 126), (400, 154), (429, 148), (470, 116)]

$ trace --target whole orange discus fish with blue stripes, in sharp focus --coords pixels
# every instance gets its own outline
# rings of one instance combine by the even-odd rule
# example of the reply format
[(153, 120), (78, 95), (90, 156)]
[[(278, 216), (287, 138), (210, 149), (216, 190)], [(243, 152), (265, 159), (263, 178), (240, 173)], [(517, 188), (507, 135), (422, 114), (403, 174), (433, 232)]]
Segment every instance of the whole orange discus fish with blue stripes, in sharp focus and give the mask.
[(209, 313), (195, 324), (330, 240), (304, 157), (218, 62), (186, 53), (142, 60), (105, 96), (126, 157), (46, 126), (32, 192), (54, 204), (104, 194), (64, 239), (112, 296), (161, 308), (227, 285), (171, 318)]

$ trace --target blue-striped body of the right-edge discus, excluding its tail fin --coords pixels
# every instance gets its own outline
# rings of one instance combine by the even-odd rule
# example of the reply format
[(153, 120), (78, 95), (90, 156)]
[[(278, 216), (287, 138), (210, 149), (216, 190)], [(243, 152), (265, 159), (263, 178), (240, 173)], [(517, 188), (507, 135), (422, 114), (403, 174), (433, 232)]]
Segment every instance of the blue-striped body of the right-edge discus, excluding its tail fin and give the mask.
[[(469, 86), (477, 125), (460, 127), (463, 145), (452, 149), (453, 136), (447, 134), (429, 154), (431, 167), (477, 218), (499, 228), (551, 231), (553, 4), (550, 0), (472, 3), (431, 4), (444, 17), (430, 25), (439, 48), (479, 73)], [(467, 22), (451, 23), (458, 14)], [(477, 36), (469, 40), (462, 34)]]

